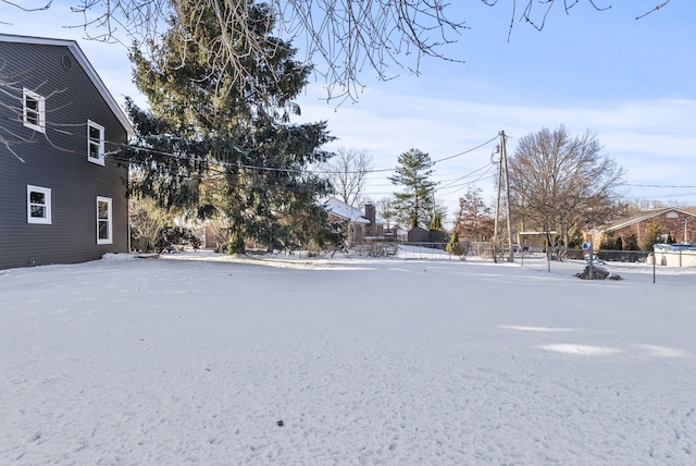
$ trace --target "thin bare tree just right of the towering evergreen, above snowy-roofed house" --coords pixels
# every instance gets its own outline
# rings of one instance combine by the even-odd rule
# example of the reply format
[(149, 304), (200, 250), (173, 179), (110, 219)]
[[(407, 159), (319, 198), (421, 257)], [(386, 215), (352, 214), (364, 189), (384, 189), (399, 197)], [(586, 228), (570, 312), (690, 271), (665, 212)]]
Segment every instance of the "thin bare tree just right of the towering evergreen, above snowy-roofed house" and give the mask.
[(372, 156), (365, 150), (340, 148), (324, 164), (328, 181), (340, 200), (353, 207), (360, 203), (368, 173), (372, 169)]

